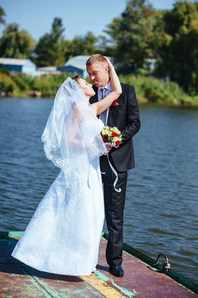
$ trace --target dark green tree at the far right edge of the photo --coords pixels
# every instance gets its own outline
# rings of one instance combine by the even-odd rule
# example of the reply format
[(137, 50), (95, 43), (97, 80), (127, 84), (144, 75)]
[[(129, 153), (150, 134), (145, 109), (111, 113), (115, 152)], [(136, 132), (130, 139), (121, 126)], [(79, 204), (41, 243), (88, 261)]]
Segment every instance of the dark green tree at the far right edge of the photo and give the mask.
[(164, 13), (171, 41), (162, 52), (162, 67), (186, 92), (198, 93), (198, 1), (177, 1)]

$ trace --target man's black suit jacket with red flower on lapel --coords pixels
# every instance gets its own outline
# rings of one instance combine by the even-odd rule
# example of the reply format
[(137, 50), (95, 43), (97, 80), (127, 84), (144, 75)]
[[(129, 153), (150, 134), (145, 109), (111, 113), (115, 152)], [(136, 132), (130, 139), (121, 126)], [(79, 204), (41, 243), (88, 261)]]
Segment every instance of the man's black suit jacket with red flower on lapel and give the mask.
[[(121, 83), (121, 86), (122, 94), (119, 96), (119, 106), (110, 107), (107, 125), (116, 126), (122, 133), (123, 144), (118, 148), (113, 147), (109, 154), (117, 170), (124, 172), (134, 168), (132, 137), (140, 129), (140, 120), (134, 87), (124, 83)], [(96, 94), (90, 98), (90, 104), (98, 101), (98, 87), (93, 85), (93, 89)], [(103, 158), (103, 156), (100, 157), (100, 162)]]

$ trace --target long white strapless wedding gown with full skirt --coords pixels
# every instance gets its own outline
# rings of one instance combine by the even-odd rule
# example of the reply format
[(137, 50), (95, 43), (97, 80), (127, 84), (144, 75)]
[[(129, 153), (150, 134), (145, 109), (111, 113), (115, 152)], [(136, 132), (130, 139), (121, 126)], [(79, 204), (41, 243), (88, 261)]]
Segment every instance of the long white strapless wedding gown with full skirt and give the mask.
[[(98, 119), (80, 124), (89, 143), (102, 127)], [(82, 165), (77, 174), (79, 189), (66, 187), (60, 171), (12, 252), (14, 258), (40, 271), (90, 275), (97, 264), (104, 223), (99, 157), (90, 158), (88, 179), (83, 155), (76, 156), (76, 162)]]

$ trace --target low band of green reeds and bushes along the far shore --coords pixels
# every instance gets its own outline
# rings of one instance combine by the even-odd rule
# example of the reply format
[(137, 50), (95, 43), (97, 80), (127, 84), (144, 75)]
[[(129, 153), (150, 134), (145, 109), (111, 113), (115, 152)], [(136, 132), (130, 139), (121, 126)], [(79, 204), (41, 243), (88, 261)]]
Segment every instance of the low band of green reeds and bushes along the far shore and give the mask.
[[(60, 85), (73, 74), (32, 78), (26, 74), (10, 76), (0, 73), (0, 89), (10, 96), (27, 96), (27, 91), (41, 91), (42, 97), (55, 97)], [(134, 85), (139, 102), (174, 105), (198, 105), (198, 96), (190, 97), (175, 82), (164, 82), (151, 76), (120, 75), (120, 81)], [(90, 81), (87, 78), (87, 81)]]

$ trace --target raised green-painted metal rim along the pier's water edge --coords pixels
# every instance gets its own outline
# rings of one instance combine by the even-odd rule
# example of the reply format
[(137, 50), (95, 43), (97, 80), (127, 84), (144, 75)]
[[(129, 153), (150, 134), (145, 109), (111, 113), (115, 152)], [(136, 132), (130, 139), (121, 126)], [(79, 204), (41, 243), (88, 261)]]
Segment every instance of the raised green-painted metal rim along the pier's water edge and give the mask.
[[(23, 231), (0, 231), (0, 237), (20, 237), (22, 236), (24, 232)], [(108, 240), (109, 235), (106, 232), (102, 233), (103, 238)], [(159, 270), (159, 268), (162, 266), (160, 262), (156, 262), (154, 259), (148, 257), (144, 253), (138, 251), (137, 249), (133, 248), (131, 245), (128, 245), (126, 243), (123, 244), (123, 248), (126, 252), (131, 254), (132, 256), (138, 258), (142, 262), (148, 264), (149, 266)], [(163, 274), (163, 273), (162, 273)], [(175, 272), (172, 269), (168, 269), (167, 275), (175, 280), (176, 282), (180, 283), (181, 285), (185, 286), (189, 290), (193, 291), (194, 293), (198, 294), (198, 285), (189, 279), (185, 278), (181, 274)]]

